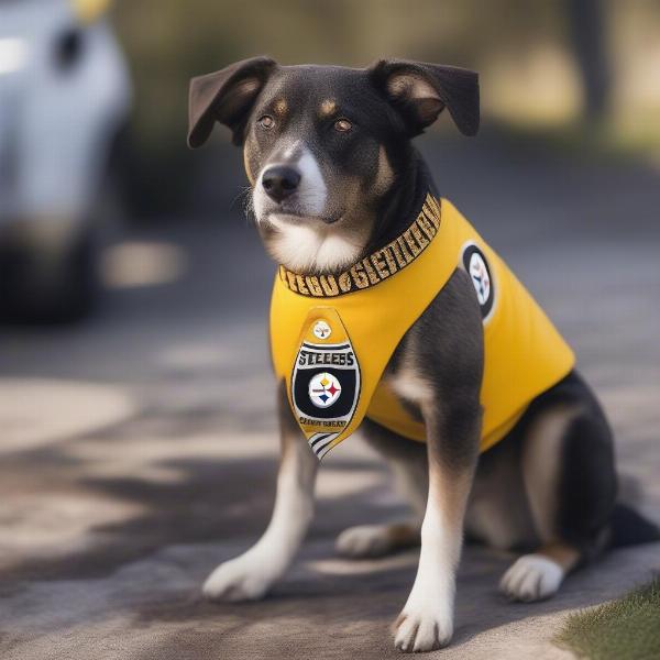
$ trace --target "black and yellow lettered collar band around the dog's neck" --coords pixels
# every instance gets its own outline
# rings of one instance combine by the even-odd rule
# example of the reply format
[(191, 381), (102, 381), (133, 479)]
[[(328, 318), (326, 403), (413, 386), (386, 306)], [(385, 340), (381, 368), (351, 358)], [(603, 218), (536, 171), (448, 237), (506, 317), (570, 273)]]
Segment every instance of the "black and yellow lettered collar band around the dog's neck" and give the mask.
[(440, 222), (440, 201), (429, 193), (406, 231), (348, 271), (340, 275), (304, 275), (280, 265), (279, 279), (290, 292), (310, 298), (333, 298), (367, 289), (409, 266), (436, 238)]

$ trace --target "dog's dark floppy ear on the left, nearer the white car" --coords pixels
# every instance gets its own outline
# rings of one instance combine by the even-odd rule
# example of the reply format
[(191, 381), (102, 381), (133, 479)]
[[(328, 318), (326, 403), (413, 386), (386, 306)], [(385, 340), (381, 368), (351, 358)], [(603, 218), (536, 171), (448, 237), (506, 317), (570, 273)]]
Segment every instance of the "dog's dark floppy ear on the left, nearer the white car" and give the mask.
[(188, 97), (188, 146), (201, 146), (216, 121), (229, 127), (233, 143), (241, 144), (248, 112), (275, 66), (268, 57), (252, 57), (215, 74), (193, 78)]

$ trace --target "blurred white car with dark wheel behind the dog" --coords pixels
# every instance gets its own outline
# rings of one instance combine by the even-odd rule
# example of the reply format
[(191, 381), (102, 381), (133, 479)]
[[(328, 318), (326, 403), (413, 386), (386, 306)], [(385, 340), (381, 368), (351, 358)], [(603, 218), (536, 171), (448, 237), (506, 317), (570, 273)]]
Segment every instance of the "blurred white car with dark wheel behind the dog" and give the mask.
[(97, 295), (100, 199), (131, 107), (110, 0), (0, 0), (0, 315), (66, 320)]

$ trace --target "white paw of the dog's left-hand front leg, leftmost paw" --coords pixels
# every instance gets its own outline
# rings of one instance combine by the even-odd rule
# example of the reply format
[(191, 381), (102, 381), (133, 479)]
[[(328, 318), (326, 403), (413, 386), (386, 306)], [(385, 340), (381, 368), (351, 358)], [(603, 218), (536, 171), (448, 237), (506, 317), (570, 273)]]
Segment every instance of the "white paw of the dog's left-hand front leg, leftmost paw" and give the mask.
[(256, 556), (241, 554), (220, 564), (207, 578), (201, 591), (209, 601), (257, 601), (276, 580), (264, 571), (264, 565), (267, 561)]

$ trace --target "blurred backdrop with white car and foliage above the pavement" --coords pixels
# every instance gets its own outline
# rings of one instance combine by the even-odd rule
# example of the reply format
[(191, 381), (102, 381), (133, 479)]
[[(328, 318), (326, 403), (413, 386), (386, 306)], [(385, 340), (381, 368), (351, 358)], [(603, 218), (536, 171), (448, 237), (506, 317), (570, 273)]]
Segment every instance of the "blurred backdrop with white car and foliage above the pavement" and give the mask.
[[(186, 90), (254, 54), (459, 64), (481, 73), (484, 134), (504, 148), (658, 161), (660, 7), (648, 0), (6, 0), (1, 11), (2, 279), (28, 320), (95, 306), (99, 244), (121, 224), (227, 212), (240, 155), (221, 131), (212, 148), (186, 150)], [(453, 138), (449, 121), (431, 135), (443, 132)], [(118, 285), (116, 262), (101, 285)]]

